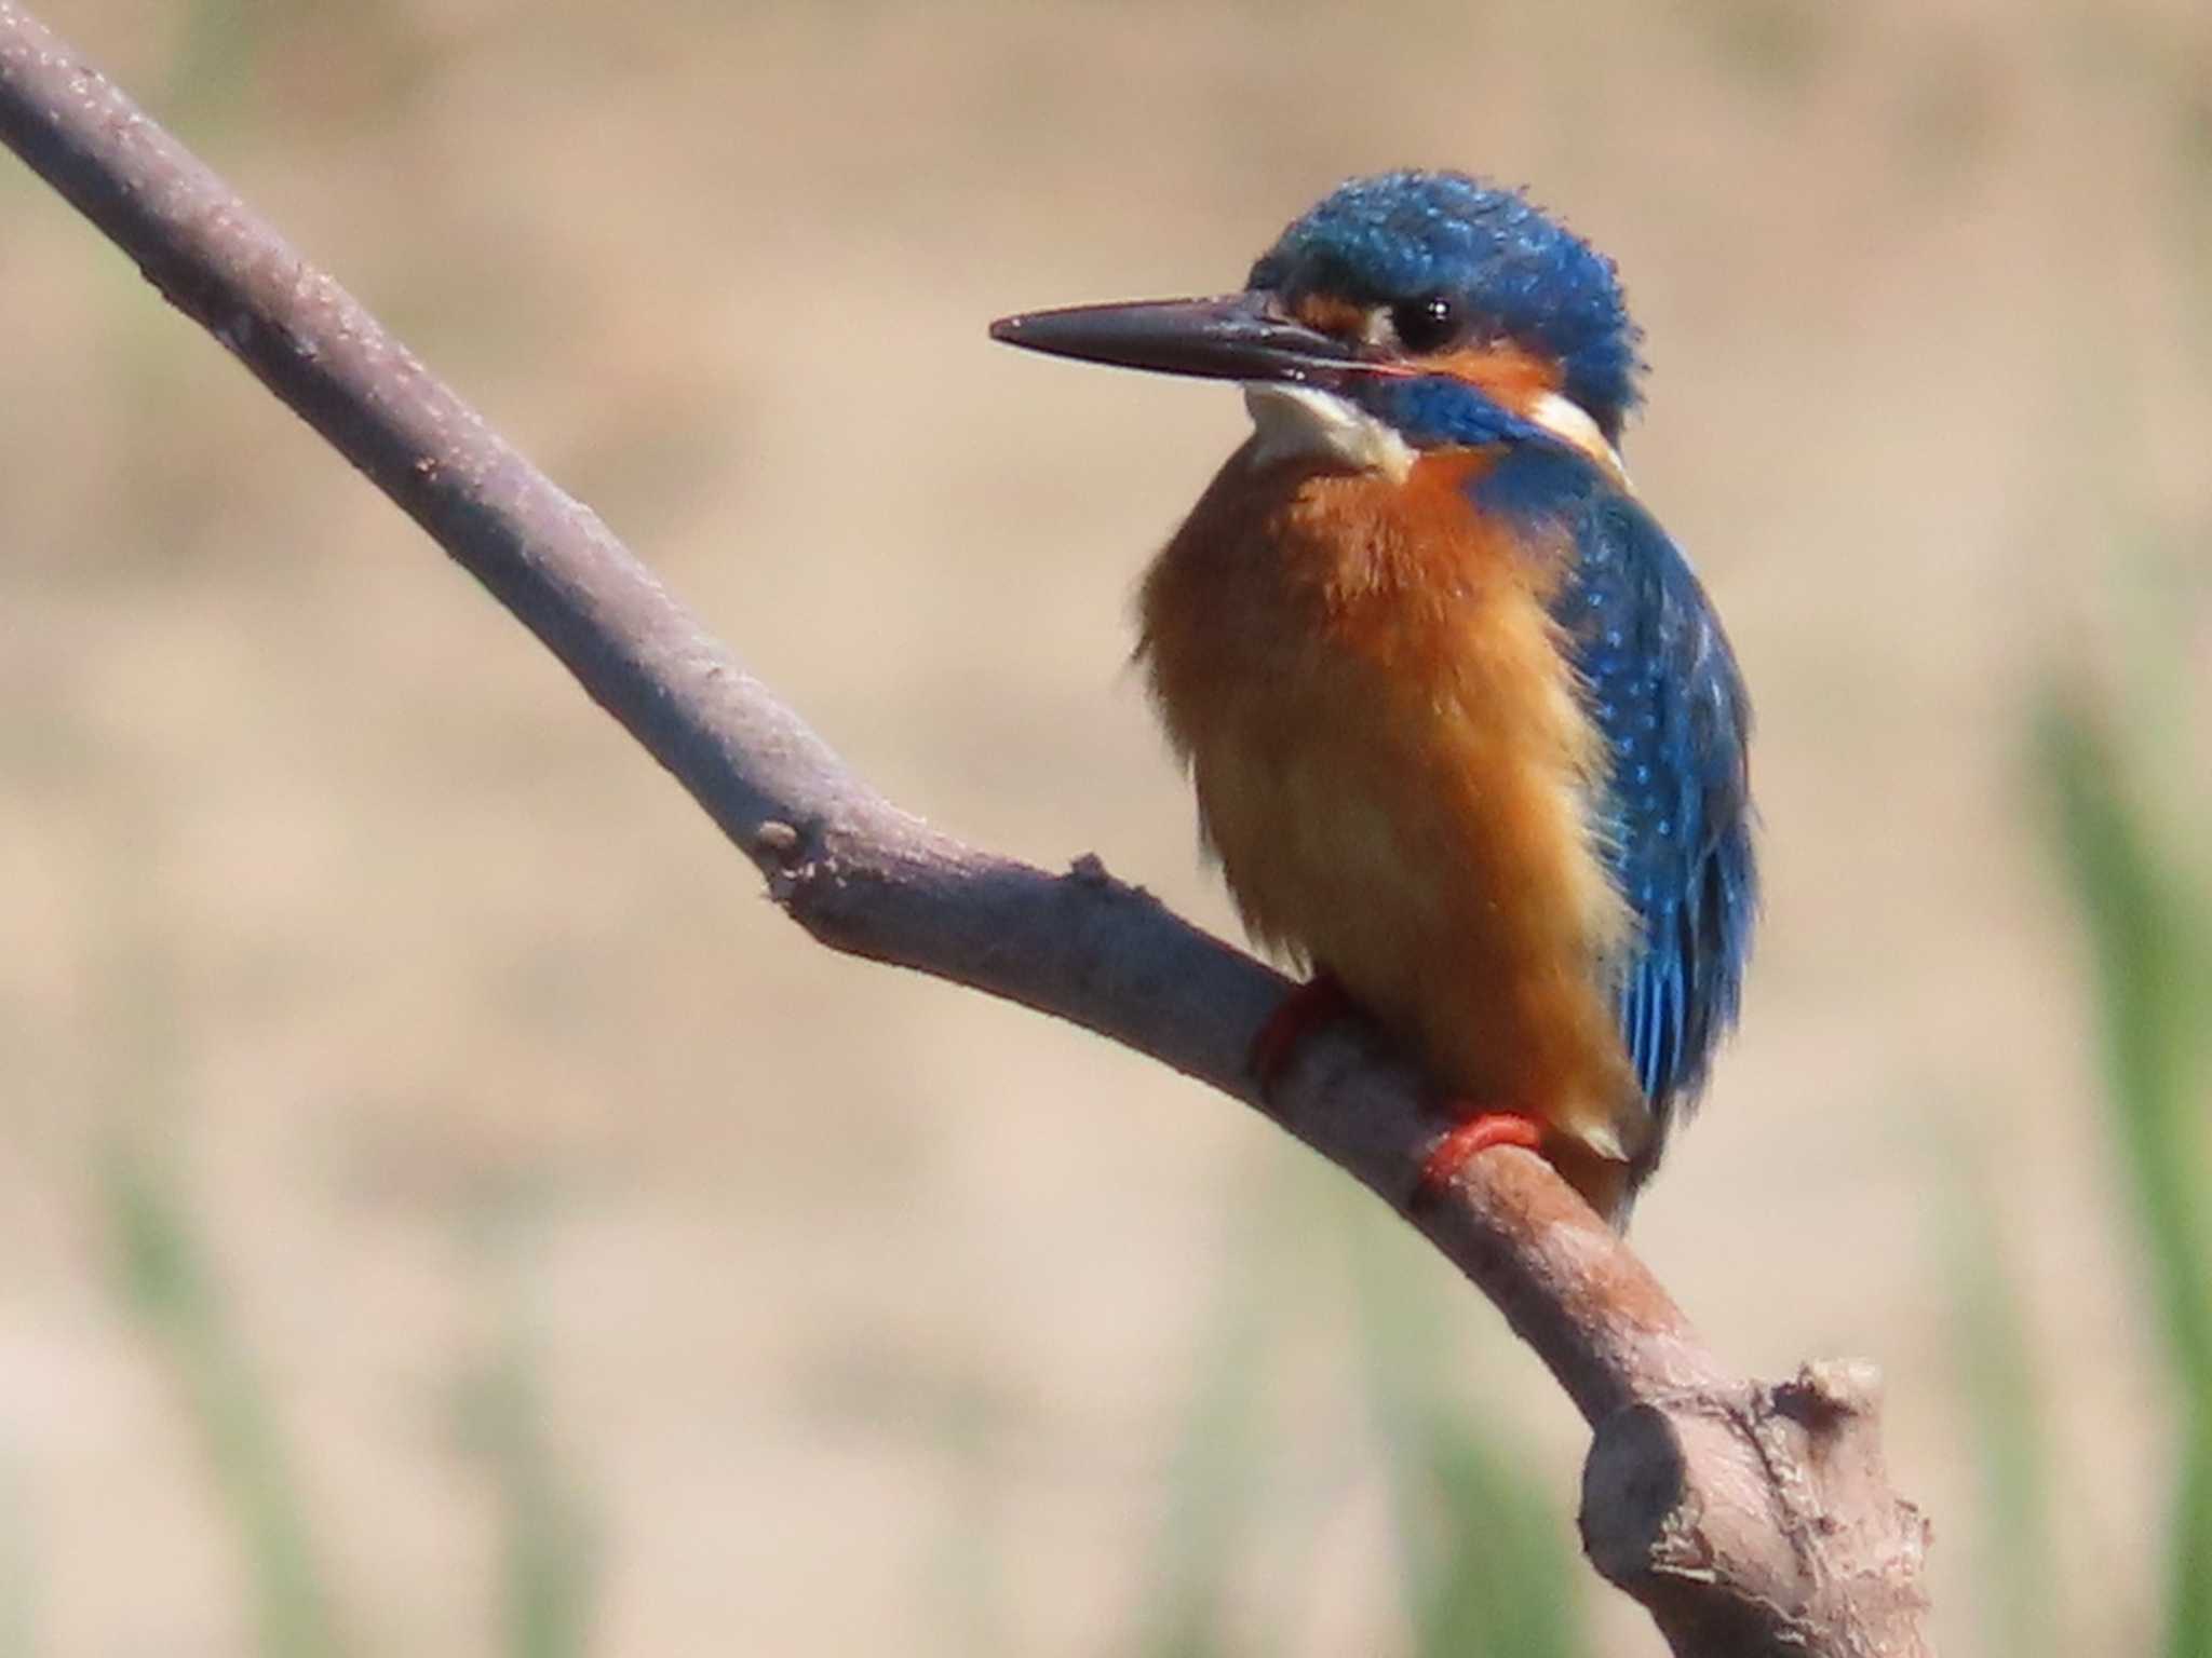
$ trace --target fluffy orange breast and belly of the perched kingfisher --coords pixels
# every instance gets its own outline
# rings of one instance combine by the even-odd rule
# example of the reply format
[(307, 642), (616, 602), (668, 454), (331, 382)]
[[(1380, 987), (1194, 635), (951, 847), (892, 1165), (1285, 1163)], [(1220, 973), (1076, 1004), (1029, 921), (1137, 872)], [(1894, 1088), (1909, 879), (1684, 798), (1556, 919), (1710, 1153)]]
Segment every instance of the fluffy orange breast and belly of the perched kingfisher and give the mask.
[(1630, 915), (1604, 745), (1546, 597), (1568, 548), (1475, 513), (1482, 451), (1405, 482), (1239, 451), (1144, 584), (1144, 657), (1254, 935), (1325, 966), (1436, 1088), (1628, 1156)]

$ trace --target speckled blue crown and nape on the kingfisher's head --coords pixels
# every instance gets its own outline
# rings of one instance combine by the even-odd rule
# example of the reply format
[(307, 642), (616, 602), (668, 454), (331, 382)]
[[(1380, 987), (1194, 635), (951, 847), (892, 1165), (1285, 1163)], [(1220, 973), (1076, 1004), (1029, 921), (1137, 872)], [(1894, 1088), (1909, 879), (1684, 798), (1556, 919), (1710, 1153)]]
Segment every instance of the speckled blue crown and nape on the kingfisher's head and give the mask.
[(1338, 186), (1261, 254), (1248, 285), (1360, 305), (1440, 294), (1482, 332), (1557, 363), (1559, 389), (1608, 440), (1619, 442), (1637, 405), (1639, 334), (1613, 261), (1520, 192), (1464, 172), (1380, 172)]

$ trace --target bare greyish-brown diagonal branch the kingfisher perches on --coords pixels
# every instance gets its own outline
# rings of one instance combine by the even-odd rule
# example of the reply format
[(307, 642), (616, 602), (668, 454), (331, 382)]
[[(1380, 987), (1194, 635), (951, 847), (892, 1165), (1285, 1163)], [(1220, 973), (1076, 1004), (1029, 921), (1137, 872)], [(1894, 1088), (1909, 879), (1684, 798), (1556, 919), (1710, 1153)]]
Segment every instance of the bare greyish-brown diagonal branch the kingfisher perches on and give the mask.
[(1369, 1185), (1506, 1315), (1597, 1430), (1593, 1563), (1677, 1654), (1924, 1654), (1927, 1534), (1871, 1382), (1734, 1377), (1535, 1156), (1416, 1176), (1449, 1127), (1356, 1032), (1272, 1099), (1245, 1054), (1285, 982), (1106, 875), (964, 847), (858, 780), (606, 531), (330, 276), (13, 0), (0, 139), (482, 581), (759, 864), (823, 944), (1073, 1019), (1254, 1105)]

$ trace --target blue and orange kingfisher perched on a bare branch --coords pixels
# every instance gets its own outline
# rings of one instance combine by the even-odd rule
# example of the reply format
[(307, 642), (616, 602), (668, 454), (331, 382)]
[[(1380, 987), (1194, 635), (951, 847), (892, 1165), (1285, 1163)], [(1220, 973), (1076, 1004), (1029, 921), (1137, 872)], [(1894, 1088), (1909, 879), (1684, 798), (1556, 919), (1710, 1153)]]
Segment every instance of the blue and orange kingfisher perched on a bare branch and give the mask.
[(1383, 172), (1237, 294), (991, 334), (1243, 387), (1137, 659), (1248, 931), (1312, 975), (1261, 1085), (1365, 1012), (1440, 1114), (1418, 1192), (1524, 1145), (1626, 1225), (1736, 1019), (1759, 873), (1743, 676), (1621, 464), (1613, 261), (1520, 190)]

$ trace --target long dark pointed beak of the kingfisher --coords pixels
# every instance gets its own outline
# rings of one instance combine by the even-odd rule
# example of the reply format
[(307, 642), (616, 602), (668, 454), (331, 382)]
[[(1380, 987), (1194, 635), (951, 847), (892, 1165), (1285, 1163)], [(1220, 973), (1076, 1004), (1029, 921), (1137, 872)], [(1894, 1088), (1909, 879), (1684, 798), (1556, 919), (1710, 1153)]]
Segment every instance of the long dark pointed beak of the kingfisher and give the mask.
[(1084, 363), (1206, 380), (1329, 385), (1358, 367), (1345, 340), (1274, 316), (1267, 294), (1026, 312), (991, 323), (991, 338)]

